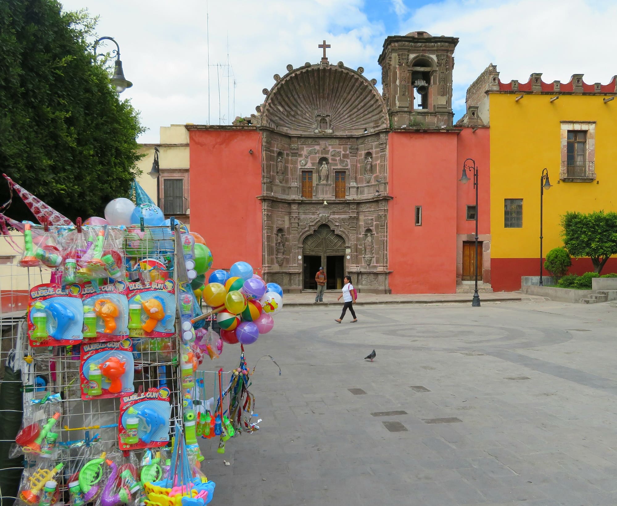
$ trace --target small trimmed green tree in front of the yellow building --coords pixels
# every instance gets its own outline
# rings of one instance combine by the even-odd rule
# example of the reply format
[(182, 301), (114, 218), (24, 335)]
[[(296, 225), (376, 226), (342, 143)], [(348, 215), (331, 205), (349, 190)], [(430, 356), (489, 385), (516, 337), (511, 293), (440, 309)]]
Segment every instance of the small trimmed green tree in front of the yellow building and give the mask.
[(561, 217), (561, 236), (573, 257), (590, 257), (594, 272), (602, 272), (611, 255), (617, 254), (617, 213), (568, 212)]

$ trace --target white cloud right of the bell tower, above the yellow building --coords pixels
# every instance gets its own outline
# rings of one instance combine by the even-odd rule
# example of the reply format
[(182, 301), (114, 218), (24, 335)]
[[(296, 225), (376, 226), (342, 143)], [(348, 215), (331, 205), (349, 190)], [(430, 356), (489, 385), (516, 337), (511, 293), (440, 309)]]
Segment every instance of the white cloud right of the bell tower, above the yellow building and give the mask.
[(416, 10), (400, 33), (426, 30), (460, 38), (455, 52), (454, 103), (489, 63), (500, 80), (569, 81), (584, 73), (586, 83), (608, 83), (617, 74), (614, 0), (448, 0)]

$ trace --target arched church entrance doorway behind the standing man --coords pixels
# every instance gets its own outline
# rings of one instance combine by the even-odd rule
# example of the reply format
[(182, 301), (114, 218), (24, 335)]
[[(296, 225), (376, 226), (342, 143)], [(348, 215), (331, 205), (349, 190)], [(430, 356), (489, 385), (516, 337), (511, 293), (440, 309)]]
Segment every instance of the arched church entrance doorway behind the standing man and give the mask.
[(302, 242), (302, 288), (317, 289), (315, 274), (323, 267), (328, 277), (326, 289), (341, 289), (345, 275), (345, 247), (345, 239), (328, 225), (320, 225), (307, 236)]

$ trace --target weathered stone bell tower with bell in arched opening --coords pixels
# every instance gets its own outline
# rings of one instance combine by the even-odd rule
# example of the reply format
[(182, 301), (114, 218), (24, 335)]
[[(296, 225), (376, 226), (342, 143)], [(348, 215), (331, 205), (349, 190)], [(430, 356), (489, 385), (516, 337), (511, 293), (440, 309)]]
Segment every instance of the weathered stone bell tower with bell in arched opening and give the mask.
[(391, 127), (452, 127), (452, 68), (456, 37), (426, 31), (389, 36), (379, 55)]

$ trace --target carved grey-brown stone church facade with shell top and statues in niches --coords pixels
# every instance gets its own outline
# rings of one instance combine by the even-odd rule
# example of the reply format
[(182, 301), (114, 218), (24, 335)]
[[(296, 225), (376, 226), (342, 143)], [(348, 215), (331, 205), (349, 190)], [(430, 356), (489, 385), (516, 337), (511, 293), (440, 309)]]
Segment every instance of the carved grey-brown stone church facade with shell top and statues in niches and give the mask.
[[(265, 278), (301, 291), (309, 268), (304, 257), (327, 263), (334, 256), (358, 289), (388, 292), (389, 122), (375, 85), (342, 64), (291, 68), (260, 110)], [(312, 181), (312, 196), (303, 195), (303, 178)]]

